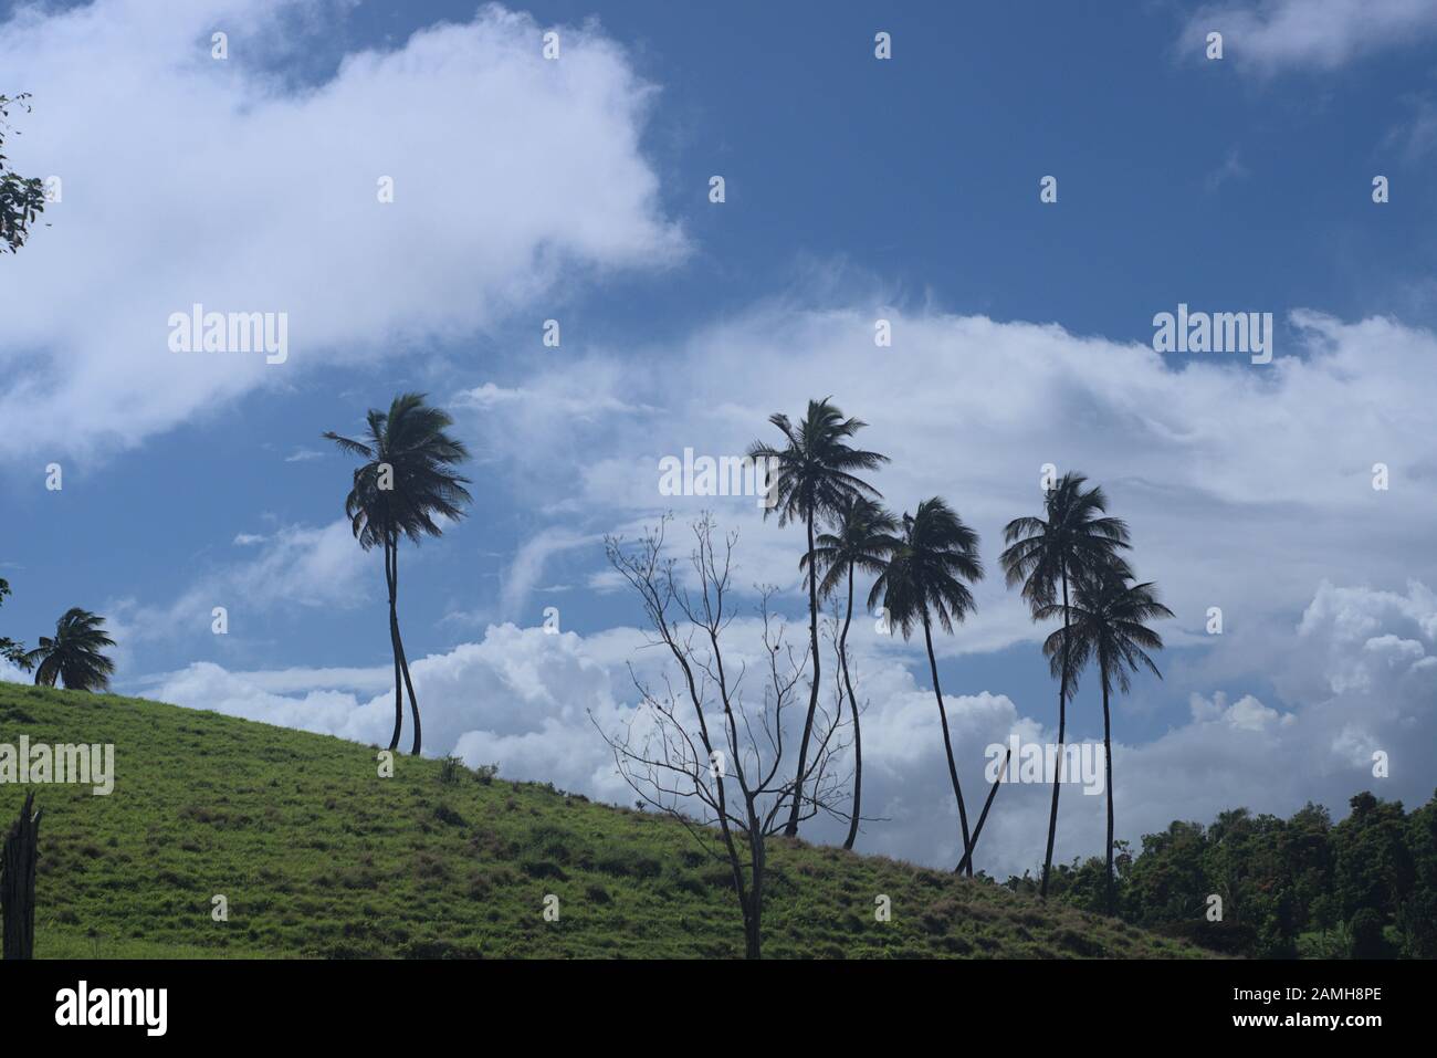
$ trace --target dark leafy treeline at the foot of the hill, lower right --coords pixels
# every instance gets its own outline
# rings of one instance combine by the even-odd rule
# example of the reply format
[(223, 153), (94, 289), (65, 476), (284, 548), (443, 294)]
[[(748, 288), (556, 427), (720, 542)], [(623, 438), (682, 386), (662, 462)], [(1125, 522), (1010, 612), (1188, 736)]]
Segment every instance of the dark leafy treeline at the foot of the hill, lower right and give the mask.
[[(1413, 812), (1367, 792), (1351, 806), (1339, 824), (1312, 802), (1290, 819), (1237, 808), (1145, 834), (1137, 855), (1118, 842), (1118, 916), (1256, 959), (1437, 957), (1437, 794)], [(1049, 897), (1102, 910), (1105, 874), (1098, 857), (1061, 864)]]

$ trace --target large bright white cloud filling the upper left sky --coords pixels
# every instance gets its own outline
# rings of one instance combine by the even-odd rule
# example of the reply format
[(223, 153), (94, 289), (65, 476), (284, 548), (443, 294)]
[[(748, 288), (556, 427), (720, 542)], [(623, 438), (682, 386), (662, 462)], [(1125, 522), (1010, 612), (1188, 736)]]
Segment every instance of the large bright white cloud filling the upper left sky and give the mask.
[[(565, 29), (546, 62), (529, 16), (486, 7), (306, 80), (312, 6), (96, 0), (0, 24), (0, 69), (36, 101), (11, 161), (63, 181), (0, 286), (0, 451), (134, 446), (684, 253), (638, 147), (652, 88), (601, 30)], [(194, 303), (287, 313), (289, 359), (171, 352)]]

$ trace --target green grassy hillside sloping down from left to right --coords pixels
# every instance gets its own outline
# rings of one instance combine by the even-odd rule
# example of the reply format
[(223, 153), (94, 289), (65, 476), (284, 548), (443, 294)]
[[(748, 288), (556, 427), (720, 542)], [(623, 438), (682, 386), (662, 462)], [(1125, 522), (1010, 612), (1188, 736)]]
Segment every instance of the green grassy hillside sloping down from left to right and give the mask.
[[(42, 957), (743, 954), (726, 868), (652, 814), (438, 760), (381, 779), (375, 750), (341, 739), (0, 684), (0, 743), (22, 735), (115, 745), (111, 796), (0, 785), (6, 831), (26, 789), (43, 809)], [(770, 865), (769, 957), (1203, 954), (892, 860), (775, 840)]]

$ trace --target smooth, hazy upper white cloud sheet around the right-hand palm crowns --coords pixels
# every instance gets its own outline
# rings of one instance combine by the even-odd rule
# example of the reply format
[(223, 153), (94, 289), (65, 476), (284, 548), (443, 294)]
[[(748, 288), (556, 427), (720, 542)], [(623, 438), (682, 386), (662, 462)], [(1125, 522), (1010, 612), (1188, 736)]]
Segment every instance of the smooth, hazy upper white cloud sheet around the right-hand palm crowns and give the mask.
[[(1164, 308), (1173, 306), (1137, 310), (1138, 323)], [(981, 535), (989, 576), (979, 612), (941, 638), (943, 651), (1039, 635), (1003, 586), (997, 555), (1006, 522), (1036, 512), (1045, 463), (1105, 486), (1112, 512), (1131, 525), (1138, 572), (1178, 614), (1164, 630), (1171, 641), (1216, 643), (1255, 671), (1259, 640), (1286, 630), (1322, 578), (1437, 582), (1427, 530), (1437, 523), (1428, 487), (1437, 338), (1428, 331), (1299, 310), (1277, 329), (1273, 364), (1259, 367), (1163, 356), (1055, 325), (884, 315), (894, 323), (891, 349), (874, 346), (874, 310), (782, 303), (700, 329), (665, 352), (673, 368), (664, 372), (651, 369), (657, 351), (592, 351), (566, 368), (566, 385), (596, 402), (662, 411), (576, 423), (542, 401), (514, 415), (494, 404), (470, 428), (526, 494), (568, 497), (588, 525), (606, 519), (632, 535), (665, 507), (680, 522), (713, 507), (743, 533), (737, 584), (798, 589), (802, 528), (763, 522), (746, 497), (660, 496), (657, 467), (688, 446), (737, 454), (754, 437), (776, 438), (770, 413), (798, 414), (832, 390), (845, 413), (871, 423), (859, 441), (892, 457), (872, 477), (890, 506), (912, 509), (940, 493)], [(542, 388), (546, 377), (537, 371), (523, 388)], [(1378, 461), (1391, 469), (1385, 492), (1372, 489)], [(598, 558), (593, 576), (592, 586), (612, 586)], [(1221, 641), (1204, 630), (1213, 605), (1223, 608)]]

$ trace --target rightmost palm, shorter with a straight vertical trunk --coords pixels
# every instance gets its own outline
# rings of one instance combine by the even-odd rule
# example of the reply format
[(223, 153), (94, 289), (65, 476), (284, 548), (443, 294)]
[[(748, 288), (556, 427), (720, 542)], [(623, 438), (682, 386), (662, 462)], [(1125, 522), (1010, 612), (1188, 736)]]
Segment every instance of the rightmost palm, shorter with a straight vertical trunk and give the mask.
[[(1148, 628), (1147, 622), (1173, 615), (1171, 610), (1158, 602), (1151, 581), (1132, 584), (1125, 569), (1104, 568), (1078, 581), (1066, 627), (1043, 643), (1053, 676), (1059, 674), (1062, 656), (1066, 653), (1073, 689), (1078, 686), (1078, 673), (1088, 661), (1096, 661), (1102, 681), (1102, 755), (1108, 772), (1108, 914), (1117, 910), (1112, 883), (1112, 720), (1108, 699), (1114, 683), (1127, 694), (1131, 687), (1128, 674), (1140, 667), (1163, 678), (1147, 654), (1150, 650), (1163, 650), (1163, 637)], [(1058, 607), (1045, 607), (1038, 614), (1039, 620), (1055, 617)]]

